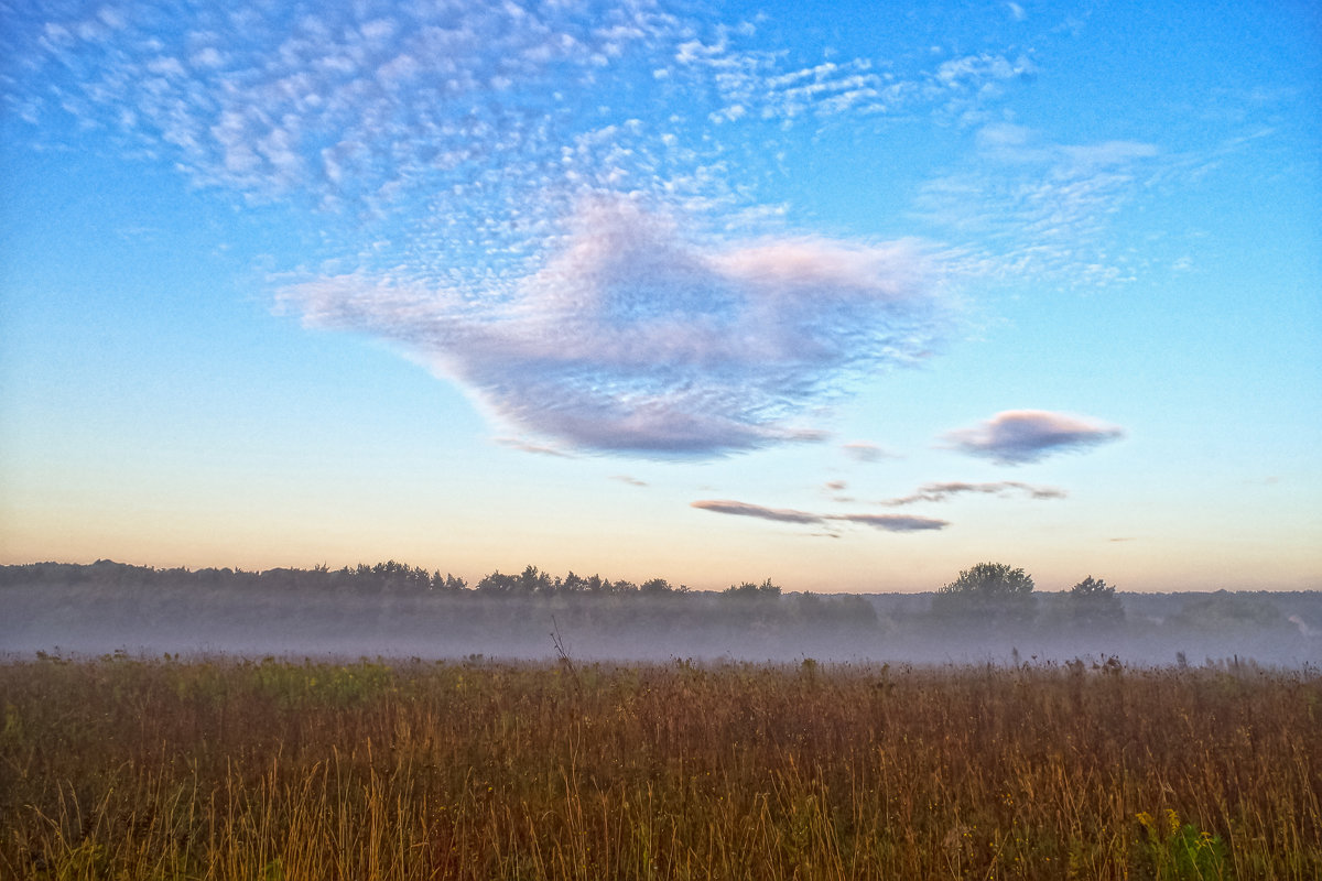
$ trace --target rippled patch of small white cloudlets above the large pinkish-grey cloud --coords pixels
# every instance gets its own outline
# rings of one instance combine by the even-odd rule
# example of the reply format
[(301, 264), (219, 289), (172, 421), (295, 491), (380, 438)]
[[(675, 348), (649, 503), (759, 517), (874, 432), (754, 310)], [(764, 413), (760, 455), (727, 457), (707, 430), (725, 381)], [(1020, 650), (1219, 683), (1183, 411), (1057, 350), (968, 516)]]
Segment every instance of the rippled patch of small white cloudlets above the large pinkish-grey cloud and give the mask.
[(715, 13), (660, 0), (19, 3), (0, 33), (0, 102), (34, 131), (73, 118), (245, 203), (319, 211), (330, 263), (488, 288), (554, 252), (590, 193), (765, 231), (783, 207), (758, 192), (783, 177), (768, 133), (956, 112), (1031, 69), (995, 53), (899, 71), (793, 58)]

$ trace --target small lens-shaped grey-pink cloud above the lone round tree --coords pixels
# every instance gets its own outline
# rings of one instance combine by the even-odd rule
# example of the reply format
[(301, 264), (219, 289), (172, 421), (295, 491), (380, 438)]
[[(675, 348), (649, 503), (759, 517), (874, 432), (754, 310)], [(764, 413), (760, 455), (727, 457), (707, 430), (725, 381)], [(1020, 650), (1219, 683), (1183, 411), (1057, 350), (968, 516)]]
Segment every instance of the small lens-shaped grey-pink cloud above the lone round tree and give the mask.
[(1007, 409), (972, 428), (945, 435), (954, 449), (998, 465), (1036, 462), (1047, 456), (1084, 450), (1117, 440), (1124, 431), (1081, 416), (1042, 409)]

